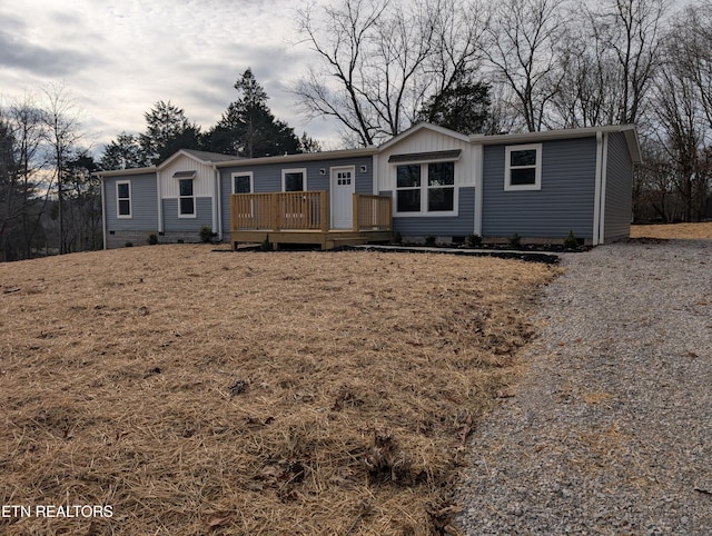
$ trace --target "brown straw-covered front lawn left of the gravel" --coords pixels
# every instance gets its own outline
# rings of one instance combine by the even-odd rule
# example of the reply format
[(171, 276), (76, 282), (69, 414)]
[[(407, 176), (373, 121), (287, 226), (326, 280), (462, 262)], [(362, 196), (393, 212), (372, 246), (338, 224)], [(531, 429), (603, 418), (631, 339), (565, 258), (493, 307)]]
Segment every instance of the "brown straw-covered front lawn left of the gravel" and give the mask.
[[(555, 268), (160, 246), (0, 265), (2, 534), (445, 534)], [(447, 527), (447, 528), (446, 528)]]

